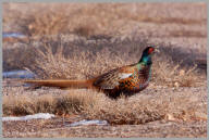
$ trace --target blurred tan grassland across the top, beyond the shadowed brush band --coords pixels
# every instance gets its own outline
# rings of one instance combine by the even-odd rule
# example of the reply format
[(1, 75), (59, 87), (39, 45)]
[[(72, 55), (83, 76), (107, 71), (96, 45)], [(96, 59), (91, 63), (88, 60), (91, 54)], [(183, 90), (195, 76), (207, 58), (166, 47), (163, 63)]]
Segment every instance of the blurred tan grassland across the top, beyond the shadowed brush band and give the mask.
[(131, 36), (134, 33), (196, 48), (197, 43), (206, 44), (206, 23), (204, 2), (3, 4), (3, 33), (25, 36)]

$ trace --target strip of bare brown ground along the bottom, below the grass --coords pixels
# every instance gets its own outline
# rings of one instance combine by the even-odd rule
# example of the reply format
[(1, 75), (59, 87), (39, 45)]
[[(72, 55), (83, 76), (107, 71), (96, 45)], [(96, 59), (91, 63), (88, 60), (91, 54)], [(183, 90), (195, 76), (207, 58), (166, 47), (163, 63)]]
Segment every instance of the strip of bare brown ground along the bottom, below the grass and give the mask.
[[(71, 119), (65, 118), (65, 124)], [(24, 126), (24, 127), (23, 127)], [(206, 138), (207, 123), (175, 123), (157, 120), (145, 125), (114, 125), (114, 126), (64, 126), (62, 118), (49, 120), (27, 120), (3, 123), (3, 137), (7, 138)]]

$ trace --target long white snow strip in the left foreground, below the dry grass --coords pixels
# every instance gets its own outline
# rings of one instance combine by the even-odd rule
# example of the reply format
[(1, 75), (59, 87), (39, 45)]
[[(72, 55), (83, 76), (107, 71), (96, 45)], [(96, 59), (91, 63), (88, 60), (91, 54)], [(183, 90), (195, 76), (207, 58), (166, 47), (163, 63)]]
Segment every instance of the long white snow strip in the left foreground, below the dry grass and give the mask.
[(7, 120), (29, 120), (29, 119), (37, 119), (37, 118), (49, 119), (51, 117), (54, 117), (54, 115), (49, 114), (49, 113), (38, 113), (38, 114), (26, 115), (26, 116), (21, 116), (21, 117), (2, 117), (2, 120), (3, 122), (7, 122)]

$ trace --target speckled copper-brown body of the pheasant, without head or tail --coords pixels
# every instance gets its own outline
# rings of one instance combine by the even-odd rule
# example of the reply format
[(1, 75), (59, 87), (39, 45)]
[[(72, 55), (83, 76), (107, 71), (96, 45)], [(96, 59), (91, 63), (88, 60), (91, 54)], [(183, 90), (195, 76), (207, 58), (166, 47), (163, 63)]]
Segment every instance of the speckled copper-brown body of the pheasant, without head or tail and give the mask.
[(150, 66), (134, 64), (116, 68), (96, 78), (93, 85), (99, 87), (99, 89), (103, 90), (111, 98), (116, 98), (121, 93), (131, 96), (148, 86)]

